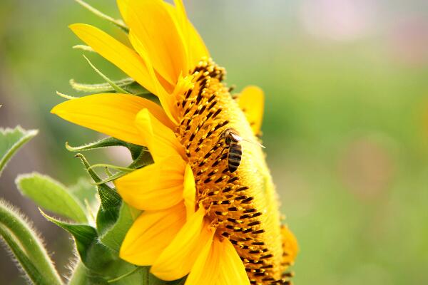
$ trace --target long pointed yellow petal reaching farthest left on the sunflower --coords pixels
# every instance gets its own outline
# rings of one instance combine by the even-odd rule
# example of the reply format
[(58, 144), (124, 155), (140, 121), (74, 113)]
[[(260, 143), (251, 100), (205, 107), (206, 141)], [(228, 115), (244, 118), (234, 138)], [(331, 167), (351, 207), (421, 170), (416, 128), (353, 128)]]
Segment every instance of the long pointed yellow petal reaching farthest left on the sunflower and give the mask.
[(51, 113), (114, 138), (146, 145), (145, 138), (135, 125), (136, 115), (142, 109), (150, 110), (163, 124), (172, 125), (159, 105), (128, 94), (88, 95), (56, 105)]

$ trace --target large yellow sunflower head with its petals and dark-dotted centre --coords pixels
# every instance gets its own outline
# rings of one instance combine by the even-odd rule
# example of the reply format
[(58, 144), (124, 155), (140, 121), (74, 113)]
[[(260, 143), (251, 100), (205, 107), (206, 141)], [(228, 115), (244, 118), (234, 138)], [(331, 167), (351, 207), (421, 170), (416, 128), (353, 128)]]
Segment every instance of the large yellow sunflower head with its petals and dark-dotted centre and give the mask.
[[(123, 200), (142, 214), (120, 257), (151, 266), (163, 280), (190, 284), (288, 284), (297, 242), (281, 225), (277, 195), (258, 143), (263, 91), (231, 96), (225, 69), (211, 59), (183, 3), (118, 0), (131, 43), (86, 24), (71, 30), (94, 51), (158, 96), (68, 100), (52, 113), (148, 147), (154, 163), (117, 179)], [(225, 131), (243, 138), (230, 170)], [(235, 154), (236, 155), (236, 154)], [(240, 162), (240, 164), (239, 164)], [(235, 165), (236, 166), (236, 165)]]

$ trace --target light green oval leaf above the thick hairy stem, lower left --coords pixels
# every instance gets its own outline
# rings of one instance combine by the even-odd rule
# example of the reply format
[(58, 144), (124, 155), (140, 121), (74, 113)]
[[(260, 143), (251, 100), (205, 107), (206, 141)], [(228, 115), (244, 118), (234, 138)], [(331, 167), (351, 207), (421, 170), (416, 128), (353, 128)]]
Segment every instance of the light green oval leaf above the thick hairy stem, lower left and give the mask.
[(32, 199), (40, 207), (76, 222), (88, 222), (83, 204), (64, 185), (51, 177), (34, 172), (19, 175), (15, 182), (22, 195)]

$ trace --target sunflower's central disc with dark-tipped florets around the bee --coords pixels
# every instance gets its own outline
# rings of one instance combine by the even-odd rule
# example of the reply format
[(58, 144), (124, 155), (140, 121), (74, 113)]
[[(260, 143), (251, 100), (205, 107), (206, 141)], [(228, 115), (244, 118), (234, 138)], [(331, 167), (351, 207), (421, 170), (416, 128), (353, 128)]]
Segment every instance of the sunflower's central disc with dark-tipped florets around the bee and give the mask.
[(240, 142), (242, 157), (235, 172), (228, 167), (228, 145), (222, 138), (232, 128), (246, 140), (258, 141), (225, 86), (225, 69), (210, 59), (193, 70), (193, 88), (178, 98), (175, 135), (185, 148), (196, 185), (196, 205), (218, 237), (234, 245), (251, 284), (290, 284), (287, 254), (282, 250), (277, 197), (260, 146)]

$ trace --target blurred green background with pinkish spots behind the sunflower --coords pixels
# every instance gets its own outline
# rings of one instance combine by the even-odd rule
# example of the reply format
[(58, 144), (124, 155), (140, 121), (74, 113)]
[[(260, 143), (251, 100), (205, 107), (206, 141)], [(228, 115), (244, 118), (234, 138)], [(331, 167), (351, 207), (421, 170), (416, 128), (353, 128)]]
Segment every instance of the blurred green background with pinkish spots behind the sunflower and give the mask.
[[(113, 0), (88, 0), (118, 17)], [(299, 240), (295, 284), (428, 284), (427, 1), (185, 1), (214, 60), (237, 90), (265, 90), (263, 142)], [(84, 175), (64, 148), (99, 135), (49, 113), (70, 78), (101, 82), (71, 49), (68, 24), (95, 24), (71, 0), (0, 1), (0, 125), (38, 128), (0, 180), (0, 195), (42, 233), (61, 273), (71, 241), (21, 197), (14, 178)], [(114, 79), (123, 74), (89, 54)], [(124, 163), (98, 151), (91, 162)], [(24, 284), (0, 251), (1, 284)]]

